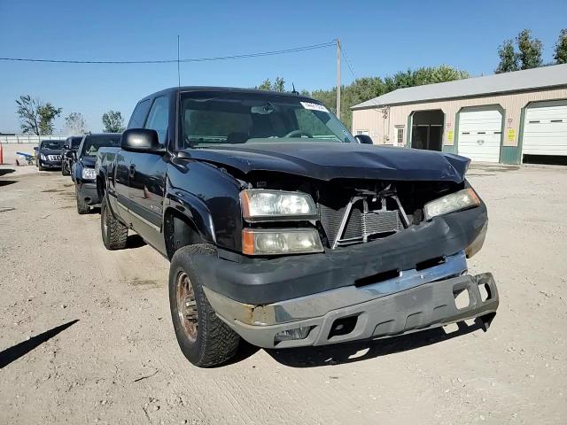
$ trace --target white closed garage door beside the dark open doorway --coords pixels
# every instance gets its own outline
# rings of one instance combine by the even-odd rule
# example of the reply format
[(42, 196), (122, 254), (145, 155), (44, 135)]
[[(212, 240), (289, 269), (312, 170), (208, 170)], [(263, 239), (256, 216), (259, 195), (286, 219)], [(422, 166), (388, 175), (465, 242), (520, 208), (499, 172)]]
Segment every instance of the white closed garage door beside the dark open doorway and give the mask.
[(459, 112), (459, 155), (472, 161), (498, 162), (501, 132), (498, 110)]

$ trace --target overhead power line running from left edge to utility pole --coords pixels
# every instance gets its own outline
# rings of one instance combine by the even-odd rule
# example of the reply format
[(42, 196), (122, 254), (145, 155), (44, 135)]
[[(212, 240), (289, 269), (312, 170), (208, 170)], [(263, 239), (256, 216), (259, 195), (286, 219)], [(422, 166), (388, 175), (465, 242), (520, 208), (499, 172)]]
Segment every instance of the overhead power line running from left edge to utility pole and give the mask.
[(293, 47), (291, 49), (260, 51), (257, 53), (245, 53), (241, 55), (215, 56), (212, 58), (185, 58), (185, 59), (162, 59), (162, 60), (75, 60), (75, 59), (40, 59), (40, 58), (0, 58), (2, 61), (10, 62), (42, 62), (50, 64), (102, 64), (102, 65), (132, 65), (132, 64), (170, 64), (174, 62), (209, 62), (214, 60), (259, 58), (264, 56), (283, 55), (299, 51), (324, 49), (334, 46), (335, 41), (312, 44), (310, 46)]

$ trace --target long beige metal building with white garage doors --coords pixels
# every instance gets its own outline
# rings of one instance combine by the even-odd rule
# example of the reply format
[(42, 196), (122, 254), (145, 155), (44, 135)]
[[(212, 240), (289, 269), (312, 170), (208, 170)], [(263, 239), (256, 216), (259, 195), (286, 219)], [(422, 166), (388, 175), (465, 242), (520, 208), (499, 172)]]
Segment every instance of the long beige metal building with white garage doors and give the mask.
[(567, 64), (397, 89), (351, 109), (353, 134), (377, 144), (567, 163)]

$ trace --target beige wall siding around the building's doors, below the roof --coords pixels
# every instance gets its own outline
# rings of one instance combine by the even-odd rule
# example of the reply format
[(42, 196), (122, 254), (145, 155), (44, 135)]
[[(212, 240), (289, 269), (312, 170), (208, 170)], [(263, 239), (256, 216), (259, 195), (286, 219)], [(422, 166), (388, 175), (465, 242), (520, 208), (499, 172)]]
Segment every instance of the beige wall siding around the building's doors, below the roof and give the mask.
[[(505, 96), (474, 97), (467, 99), (454, 99), (444, 101), (425, 102), (422, 104), (401, 104), (390, 108), (387, 118), (384, 119), (384, 110), (363, 109), (353, 111), (353, 134), (358, 130), (369, 131), (370, 137), (377, 144), (396, 144), (396, 128), (404, 128), (404, 143), (408, 136), (408, 116), (414, 111), (441, 109), (445, 113), (445, 131), (443, 132), (443, 145), (454, 144), (453, 138), (449, 140), (451, 131), (454, 132), (457, 112), (467, 106), (481, 106), (500, 104), (505, 110), (504, 117), (504, 146), (517, 146), (520, 128), (520, 114), (522, 108), (530, 102), (538, 100), (566, 99), (567, 89), (549, 89), (514, 93)], [(513, 129), (513, 139), (509, 138), (509, 129)]]

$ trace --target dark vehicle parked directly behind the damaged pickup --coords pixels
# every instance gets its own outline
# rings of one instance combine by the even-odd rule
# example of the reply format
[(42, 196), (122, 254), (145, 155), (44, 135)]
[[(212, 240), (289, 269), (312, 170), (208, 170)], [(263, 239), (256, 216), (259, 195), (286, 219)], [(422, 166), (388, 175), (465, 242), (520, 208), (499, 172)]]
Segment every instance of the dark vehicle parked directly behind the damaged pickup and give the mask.
[(97, 192), (95, 161), (103, 146), (119, 146), (120, 133), (85, 135), (74, 153), (73, 181), (77, 200), (77, 213), (89, 213), (91, 206), (100, 205)]

